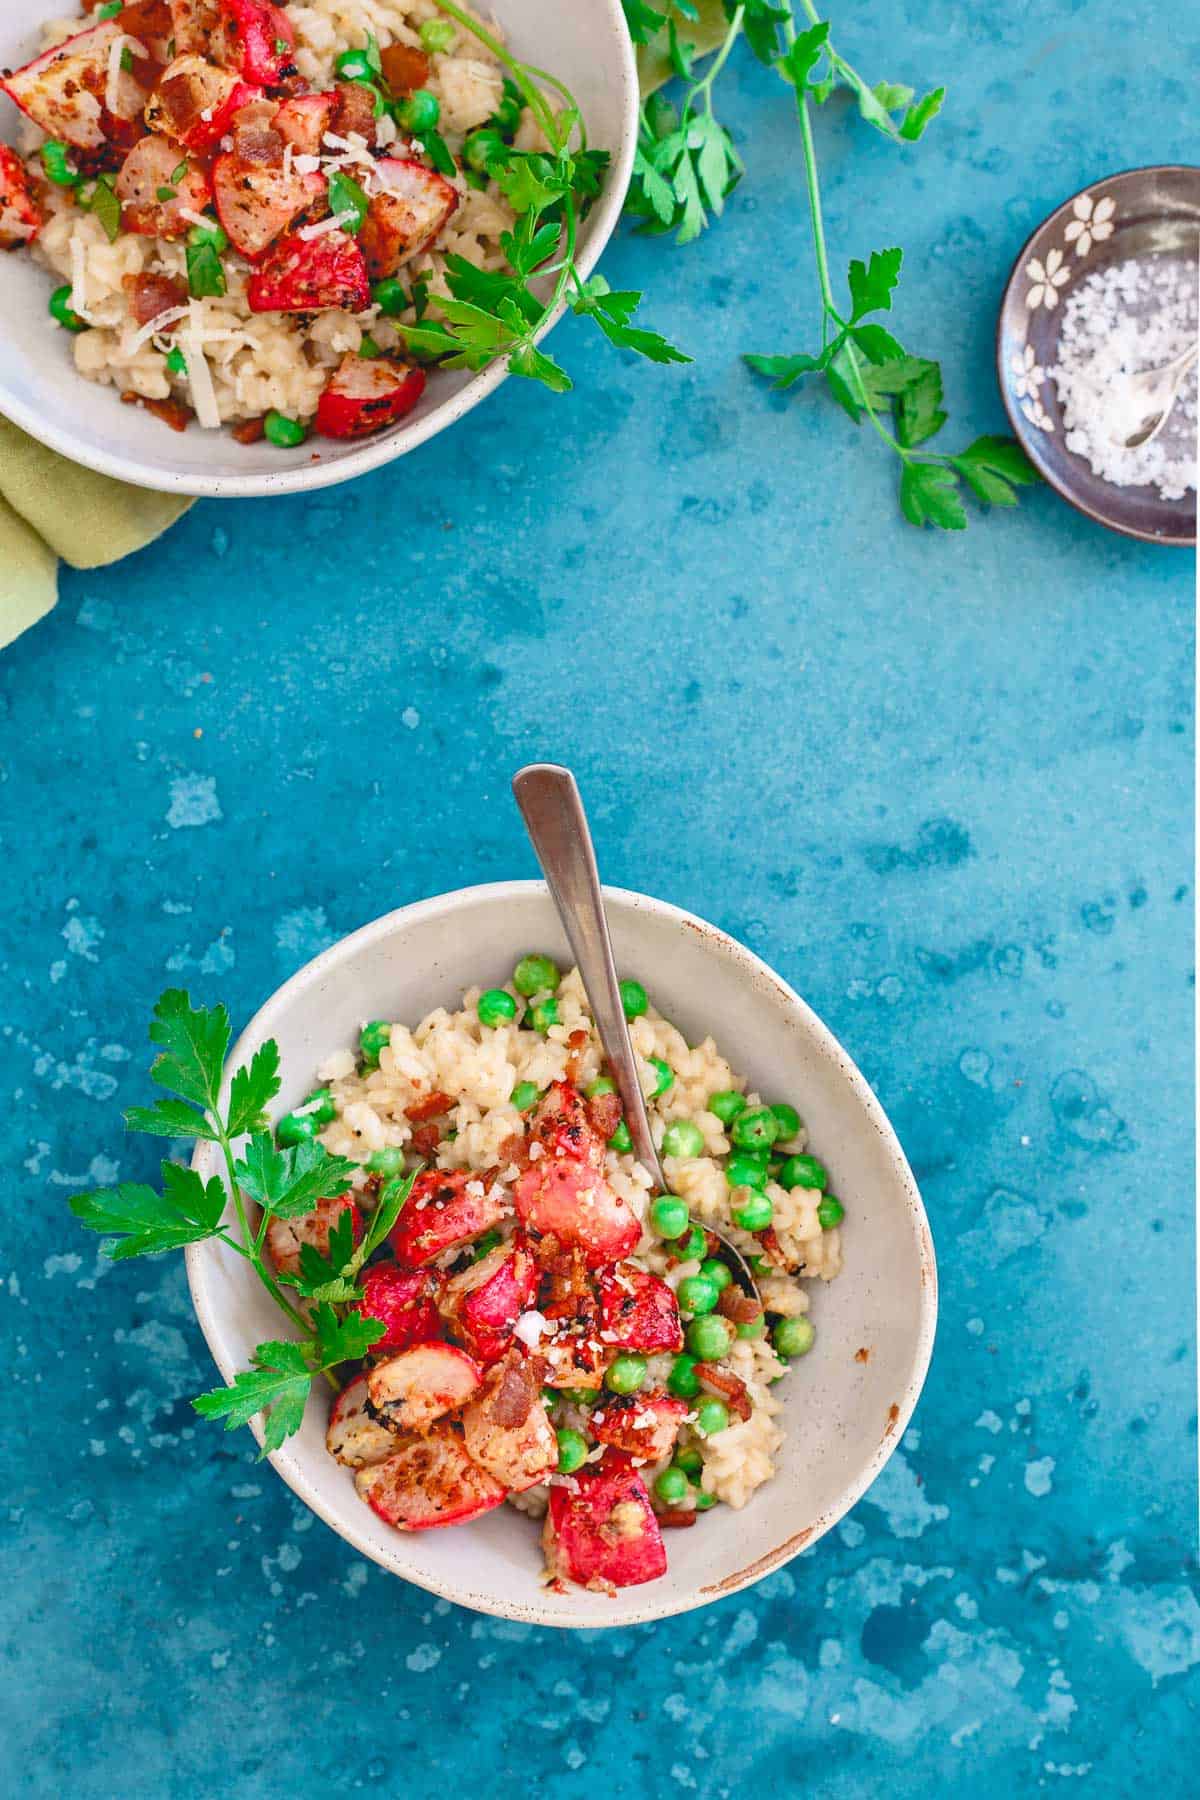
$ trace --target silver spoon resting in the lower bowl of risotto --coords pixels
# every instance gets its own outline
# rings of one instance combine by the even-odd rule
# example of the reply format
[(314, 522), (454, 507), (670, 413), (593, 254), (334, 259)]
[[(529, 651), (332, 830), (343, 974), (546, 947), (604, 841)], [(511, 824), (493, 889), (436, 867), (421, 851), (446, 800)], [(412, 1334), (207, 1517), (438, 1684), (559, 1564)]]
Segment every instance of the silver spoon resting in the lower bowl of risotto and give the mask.
[[(621, 1094), (633, 1152), (642, 1168), (649, 1170), (657, 1190), (669, 1193), (637, 1078), (633, 1044), (612, 959), (596, 850), (576, 778), (560, 763), (529, 763), (513, 776), (513, 794), (579, 968), (596, 1030)], [(741, 1251), (712, 1226), (705, 1226), (705, 1231), (721, 1240), (738, 1285), (757, 1300), (759, 1292)]]

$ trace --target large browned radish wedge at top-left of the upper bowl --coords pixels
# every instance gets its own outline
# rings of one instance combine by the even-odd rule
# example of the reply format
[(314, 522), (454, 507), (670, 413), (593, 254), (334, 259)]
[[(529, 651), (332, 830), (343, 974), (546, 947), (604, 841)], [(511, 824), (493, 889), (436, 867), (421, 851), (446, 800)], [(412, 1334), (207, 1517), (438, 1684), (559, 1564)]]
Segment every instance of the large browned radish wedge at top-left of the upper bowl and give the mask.
[[(146, 88), (121, 67), (117, 45), (122, 38), (124, 27), (104, 20), (0, 79), (0, 90), (49, 137), (76, 149), (99, 149), (146, 104)], [(115, 74), (110, 79), (113, 58)]]

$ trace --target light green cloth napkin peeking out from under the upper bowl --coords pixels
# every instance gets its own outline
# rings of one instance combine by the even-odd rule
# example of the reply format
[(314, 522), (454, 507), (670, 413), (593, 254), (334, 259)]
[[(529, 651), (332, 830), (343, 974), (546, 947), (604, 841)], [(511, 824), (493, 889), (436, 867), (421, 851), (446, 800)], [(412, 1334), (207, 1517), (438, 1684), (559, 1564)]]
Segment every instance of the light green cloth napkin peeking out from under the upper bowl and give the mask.
[[(687, 31), (696, 50), (725, 36), (721, 0), (700, 0)], [(642, 94), (671, 79), (666, 38), (639, 50)], [(193, 502), (128, 488), (56, 455), (0, 418), (0, 648), (27, 632), (58, 599), (59, 560), (99, 569), (153, 544)]]

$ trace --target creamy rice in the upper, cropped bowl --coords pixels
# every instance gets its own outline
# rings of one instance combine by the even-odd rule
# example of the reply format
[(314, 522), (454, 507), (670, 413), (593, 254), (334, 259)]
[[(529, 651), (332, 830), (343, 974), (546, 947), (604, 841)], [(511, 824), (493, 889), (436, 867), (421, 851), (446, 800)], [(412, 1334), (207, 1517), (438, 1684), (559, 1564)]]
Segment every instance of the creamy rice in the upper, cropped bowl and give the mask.
[[(444, 18), (432, 0), (311, 0), (288, 5), (295, 27), (295, 61), (315, 86), (333, 83), (335, 58), (342, 50), (362, 49), (367, 34), (380, 47), (417, 45), (425, 20)], [(482, 14), (480, 14), (482, 16)], [(488, 22), (497, 34), (498, 29)], [(47, 27), (47, 45), (79, 31), (79, 18), (65, 18)], [(475, 40), (459, 32), (450, 52), (430, 58), (428, 88), (441, 103), (441, 131), (457, 153), (464, 133), (482, 124), (502, 94), (500, 68)], [(34, 149), (43, 133), (23, 121), (23, 149)], [(381, 148), (401, 137), (390, 119), (378, 122)], [(540, 146), (529, 113), (516, 133), (518, 149)], [(430, 270), (430, 292), (443, 290), (444, 256), (457, 252), (480, 268), (498, 268), (500, 232), (513, 223), (513, 212), (495, 182), (475, 189), (457, 175), (453, 185), (461, 203), (435, 247), (419, 257)], [(187, 284), (182, 239), (142, 238), (121, 232), (110, 243), (97, 218), (68, 205), (63, 189), (50, 187), (45, 203), (52, 216), (31, 247), (32, 256), (63, 281), (72, 283), (72, 310), (92, 326), (72, 340), (76, 367), (92, 382), (104, 382), (144, 400), (189, 400), (189, 380), (167, 367), (171, 338), (148, 338), (130, 311), (128, 279), (166, 275)], [(358, 351), (371, 333), (380, 349), (403, 353), (403, 342), (378, 306), (362, 313), (252, 313), (246, 299), (248, 265), (225, 257), (228, 292), (223, 299), (189, 301), (189, 329), (209, 362), (216, 409), (223, 423), (257, 419), (266, 412), (308, 419), (317, 410), (329, 374), (347, 351)], [(414, 313), (401, 313), (405, 322)]]

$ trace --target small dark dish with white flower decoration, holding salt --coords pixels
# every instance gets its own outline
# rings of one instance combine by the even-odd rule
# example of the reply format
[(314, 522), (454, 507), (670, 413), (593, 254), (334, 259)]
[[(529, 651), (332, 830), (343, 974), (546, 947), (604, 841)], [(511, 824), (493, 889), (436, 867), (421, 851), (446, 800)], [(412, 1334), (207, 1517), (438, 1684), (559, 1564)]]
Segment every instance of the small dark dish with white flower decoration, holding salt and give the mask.
[[(1128, 169), (1092, 182), (1038, 225), (1013, 263), (997, 322), (1000, 394), (1025, 455), (1056, 493), (1110, 531), (1150, 544), (1196, 542), (1196, 493), (1117, 488), (1067, 450), (1058, 391), (1058, 333), (1070, 288), (1106, 263), (1200, 254), (1200, 169)], [(1047, 304), (1049, 297), (1049, 304)], [(1033, 304), (1031, 304), (1033, 302)]]

